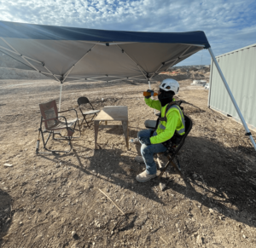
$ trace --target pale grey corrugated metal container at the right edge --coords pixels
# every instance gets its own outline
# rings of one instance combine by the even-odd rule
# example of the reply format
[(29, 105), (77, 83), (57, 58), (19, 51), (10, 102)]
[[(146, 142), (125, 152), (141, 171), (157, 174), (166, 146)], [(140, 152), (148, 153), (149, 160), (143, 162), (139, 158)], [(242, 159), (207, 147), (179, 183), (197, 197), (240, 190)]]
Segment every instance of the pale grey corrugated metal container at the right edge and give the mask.
[[(256, 43), (216, 57), (248, 128), (256, 130)], [(211, 63), (208, 106), (241, 122), (216, 66)]]

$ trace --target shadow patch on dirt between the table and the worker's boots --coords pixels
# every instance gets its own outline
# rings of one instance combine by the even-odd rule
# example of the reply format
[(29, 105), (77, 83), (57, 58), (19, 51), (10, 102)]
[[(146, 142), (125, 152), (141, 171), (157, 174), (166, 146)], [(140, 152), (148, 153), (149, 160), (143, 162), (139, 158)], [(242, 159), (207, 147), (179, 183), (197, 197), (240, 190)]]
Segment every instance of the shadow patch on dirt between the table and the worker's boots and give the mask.
[[(116, 185), (120, 185), (124, 189), (129, 189), (134, 193), (142, 194), (145, 198), (152, 199), (155, 202), (163, 204), (162, 200), (158, 197), (157, 193), (154, 193), (153, 187), (159, 185), (158, 180), (152, 180), (151, 182), (140, 183), (137, 182), (135, 177), (137, 174), (143, 172), (144, 164), (138, 164), (134, 160), (131, 160), (128, 156), (124, 156), (124, 151), (119, 148), (105, 149), (101, 144), (102, 149), (93, 150), (92, 156), (85, 156), (81, 153), (84, 151), (77, 151), (76, 144), (73, 145), (73, 153), (63, 154), (59, 156), (47, 156), (40, 154), (42, 159), (52, 161), (54, 163), (60, 163), (61, 166), (72, 166), (78, 170), (81, 170), (85, 175), (96, 176), (98, 179), (102, 179), (104, 182), (111, 182)], [(78, 146), (80, 147), (80, 146)], [(79, 148), (80, 149), (80, 148)], [(90, 150), (91, 151), (91, 150)], [(73, 154), (77, 160), (66, 161), (68, 156)], [(122, 154), (122, 155), (121, 155)], [(90, 162), (84, 162), (89, 160)], [(78, 162), (78, 163), (77, 163)]]

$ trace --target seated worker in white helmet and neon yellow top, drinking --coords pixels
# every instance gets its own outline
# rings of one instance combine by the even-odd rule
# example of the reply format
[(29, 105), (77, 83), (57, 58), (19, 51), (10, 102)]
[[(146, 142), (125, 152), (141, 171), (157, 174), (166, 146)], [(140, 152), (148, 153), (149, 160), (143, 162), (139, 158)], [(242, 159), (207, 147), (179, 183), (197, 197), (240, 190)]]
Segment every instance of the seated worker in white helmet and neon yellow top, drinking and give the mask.
[(141, 130), (137, 134), (142, 144), (142, 157), (137, 156), (136, 160), (146, 164), (146, 170), (136, 177), (138, 182), (147, 182), (156, 176), (154, 153), (166, 152), (166, 141), (169, 141), (175, 135), (183, 136), (185, 133), (183, 112), (175, 104), (173, 98), (178, 90), (179, 84), (177, 81), (167, 78), (160, 84), (159, 100), (154, 101), (150, 96), (145, 96), (145, 102), (149, 107), (160, 110), (160, 121), (156, 130)]

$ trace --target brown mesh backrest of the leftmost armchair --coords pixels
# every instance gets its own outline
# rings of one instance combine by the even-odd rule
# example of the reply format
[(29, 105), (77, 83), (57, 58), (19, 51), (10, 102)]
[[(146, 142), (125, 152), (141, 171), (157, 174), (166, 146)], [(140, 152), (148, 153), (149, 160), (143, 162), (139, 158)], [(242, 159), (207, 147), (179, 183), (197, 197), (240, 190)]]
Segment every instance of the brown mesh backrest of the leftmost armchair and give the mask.
[[(40, 112), (43, 117), (45, 128), (49, 129), (58, 122), (58, 110), (56, 101), (49, 101), (44, 104), (39, 104)], [(50, 119), (50, 120), (47, 120)]]

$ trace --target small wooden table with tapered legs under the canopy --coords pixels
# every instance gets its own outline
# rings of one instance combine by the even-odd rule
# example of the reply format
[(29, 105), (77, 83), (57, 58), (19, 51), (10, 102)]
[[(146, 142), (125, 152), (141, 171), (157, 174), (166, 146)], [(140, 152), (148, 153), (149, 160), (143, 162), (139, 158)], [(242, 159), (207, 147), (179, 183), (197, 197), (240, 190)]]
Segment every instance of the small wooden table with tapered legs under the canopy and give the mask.
[[(100, 122), (105, 121), (105, 125), (100, 125)], [(126, 147), (129, 149), (128, 141), (128, 108), (127, 106), (106, 106), (94, 119), (95, 130), (95, 149), (98, 137), (99, 127), (101, 128), (117, 128), (120, 125), (108, 125), (108, 121), (121, 121), (125, 135)]]

